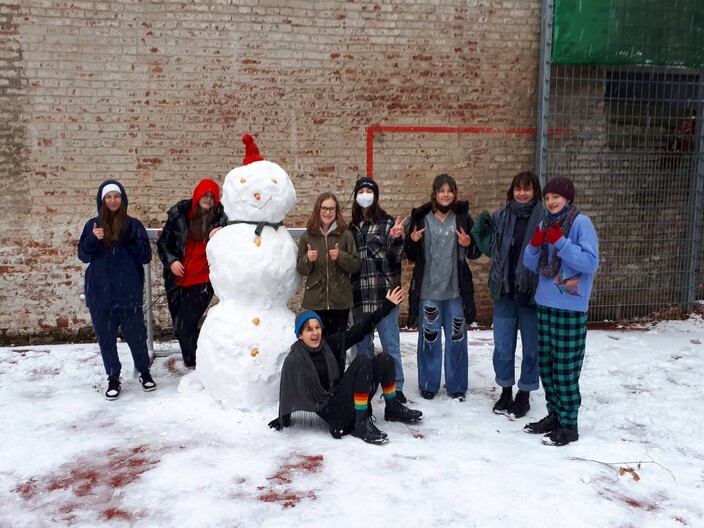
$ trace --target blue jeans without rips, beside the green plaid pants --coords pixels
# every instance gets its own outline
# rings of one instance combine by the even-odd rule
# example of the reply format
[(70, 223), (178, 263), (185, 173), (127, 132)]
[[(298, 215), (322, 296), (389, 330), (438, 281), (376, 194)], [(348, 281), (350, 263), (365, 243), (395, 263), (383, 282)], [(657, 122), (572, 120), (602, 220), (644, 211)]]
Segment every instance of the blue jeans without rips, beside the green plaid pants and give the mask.
[(494, 301), (494, 373), (499, 387), (516, 383), (516, 341), (521, 330), (523, 360), (518, 388), (538, 390), (538, 316), (535, 308), (502, 297)]

